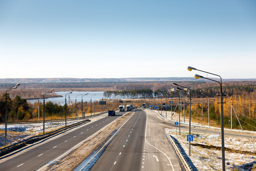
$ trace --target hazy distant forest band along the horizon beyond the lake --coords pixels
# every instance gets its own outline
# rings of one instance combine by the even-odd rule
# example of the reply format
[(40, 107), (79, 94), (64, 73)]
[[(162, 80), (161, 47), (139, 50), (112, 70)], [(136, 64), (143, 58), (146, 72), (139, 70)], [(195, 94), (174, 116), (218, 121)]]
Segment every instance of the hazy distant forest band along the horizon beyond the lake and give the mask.
[[(174, 88), (174, 82), (83, 82), (83, 83), (23, 83), (17, 89), (12, 90), (9, 94), (11, 98), (16, 95), (23, 99), (38, 98), (41, 92), (49, 91), (54, 88), (55, 91), (130, 91), (135, 89), (151, 89), (167, 91)], [(178, 81), (175, 82), (181, 86), (190, 88), (193, 97), (202, 97), (200, 89), (214, 97), (219, 93), (219, 84), (215, 82), (203, 81)], [(0, 83), (0, 96), (5, 93), (5, 90), (12, 87), (13, 83)], [(223, 92), (227, 95), (245, 95), (248, 96), (255, 91), (256, 81), (239, 81), (239, 82), (223, 82)]]

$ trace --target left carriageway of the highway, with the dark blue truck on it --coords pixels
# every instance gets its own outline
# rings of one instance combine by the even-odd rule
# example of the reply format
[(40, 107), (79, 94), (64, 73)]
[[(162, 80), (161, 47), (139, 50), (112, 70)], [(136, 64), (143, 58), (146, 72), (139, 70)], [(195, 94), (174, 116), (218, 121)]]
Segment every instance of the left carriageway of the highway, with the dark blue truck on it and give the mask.
[(0, 158), (1, 170), (47, 170), (47, 166), (55, 164), (71, 150), (78, 148), (88, 137), (121, 115), (117, 112), (117, 117), (97, 116), (91, 123), (68, 129), (6, 154)]

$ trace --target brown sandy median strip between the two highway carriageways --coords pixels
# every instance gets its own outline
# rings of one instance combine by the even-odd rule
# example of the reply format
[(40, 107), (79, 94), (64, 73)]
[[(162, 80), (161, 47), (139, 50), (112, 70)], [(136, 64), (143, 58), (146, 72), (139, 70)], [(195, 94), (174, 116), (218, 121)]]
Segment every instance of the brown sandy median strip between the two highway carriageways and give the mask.
[(94, 150), (104, 143), (108, 136), (111, 135), (118, 127), (126, 121), (133, 112), (129, 112), (126, 115), (119, 117), (102, 131), (99, 131), (97, 135), (83, 143), (79, 148), (62, 158), (58, 164), (51, 166), (47, 170), (73, 170), (75, 169), (86, 157), (88, 157)]

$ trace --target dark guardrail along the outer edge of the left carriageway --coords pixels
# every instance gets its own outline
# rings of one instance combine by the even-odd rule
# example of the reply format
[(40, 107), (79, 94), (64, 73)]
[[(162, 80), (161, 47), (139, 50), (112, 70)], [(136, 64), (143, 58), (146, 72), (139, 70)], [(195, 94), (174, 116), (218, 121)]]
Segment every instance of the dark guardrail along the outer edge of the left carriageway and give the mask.
[[(97, 115), (99, 115), (99, 114), (97, 114)], [(78, 123), (75, 123), (75, 124), (72, 124), (72, 125), (67, 125), (66, 127), (57, 129), (57, 130), (49, 132), (49, 133), (45, 133), (44, 135), (33, 136), (33, 137), (30, 137), (29, 139), (22, 140), (22, 141), (20, 141), (18, 143), (14, 143), (14, 144), (8, 145), (8, 146), (0, 149), (0, 156), (2, 156), (3, 154), (6, 154), (8, 152), (11, 152), (11, 151), (13, 151), (15, 149), (21, 148), (22, 146), (24, 146), (26, 144), (29, 144), (31, 142), (45, 139), (46, 137), (55, 135), (56, 133), (59, 133), (59, 132), (64, 131), (66, 129), (75, 127), (77, 125), (80, 125), (80, 124), (83, 124), (83, 123), (88, 123), (89, 121), (90, 121), (89, 119), (83, 120), (83, 121), (79, 121)]]

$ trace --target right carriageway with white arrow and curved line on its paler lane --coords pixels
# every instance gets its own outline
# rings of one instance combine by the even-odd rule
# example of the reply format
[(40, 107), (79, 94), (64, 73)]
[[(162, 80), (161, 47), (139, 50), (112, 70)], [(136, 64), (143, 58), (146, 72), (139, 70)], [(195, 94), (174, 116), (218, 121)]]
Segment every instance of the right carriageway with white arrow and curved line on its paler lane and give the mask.
[(160, 119), (145, 111), (135, 111), (91, 170), (182, 170)]

